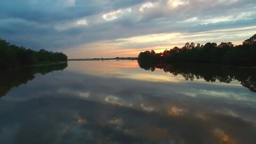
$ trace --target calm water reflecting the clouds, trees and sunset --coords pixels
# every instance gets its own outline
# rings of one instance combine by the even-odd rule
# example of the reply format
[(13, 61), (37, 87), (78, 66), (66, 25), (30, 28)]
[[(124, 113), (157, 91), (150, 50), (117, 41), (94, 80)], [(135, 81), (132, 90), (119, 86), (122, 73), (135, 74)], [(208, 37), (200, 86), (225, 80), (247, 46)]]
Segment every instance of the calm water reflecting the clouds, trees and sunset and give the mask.
[(0, 71), (0, 143), (256, 142), (255, 69), (140, 67), (70, 61)]

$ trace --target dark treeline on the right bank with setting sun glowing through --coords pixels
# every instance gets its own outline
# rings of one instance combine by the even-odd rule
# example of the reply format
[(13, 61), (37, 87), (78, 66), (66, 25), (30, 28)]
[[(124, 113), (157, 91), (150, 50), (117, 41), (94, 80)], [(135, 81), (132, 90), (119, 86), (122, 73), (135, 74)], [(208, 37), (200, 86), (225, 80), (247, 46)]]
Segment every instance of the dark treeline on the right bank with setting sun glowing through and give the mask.
[(155, 53), (154, 50), (141, 52), (139, 61), (149, 62), (193, 62), (214, 63), (221, 65), (248, 65), (256, 63), (256, 34), (246, 39), (242, 45), (228, 43), (206, 43), (205, 45), (186, 43), (179, 48), (175, 46), (171, 50)]

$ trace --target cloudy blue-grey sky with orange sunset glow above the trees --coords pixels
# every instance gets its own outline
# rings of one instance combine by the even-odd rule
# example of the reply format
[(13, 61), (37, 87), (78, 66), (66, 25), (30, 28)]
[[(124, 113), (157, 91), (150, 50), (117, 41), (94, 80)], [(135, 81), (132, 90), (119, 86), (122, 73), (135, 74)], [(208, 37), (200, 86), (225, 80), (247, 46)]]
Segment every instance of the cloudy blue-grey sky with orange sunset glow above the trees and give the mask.
[(187, 42), (242, 44), (255, 0), (1, 0), (0, 38), (68, 58), (137, 57)]

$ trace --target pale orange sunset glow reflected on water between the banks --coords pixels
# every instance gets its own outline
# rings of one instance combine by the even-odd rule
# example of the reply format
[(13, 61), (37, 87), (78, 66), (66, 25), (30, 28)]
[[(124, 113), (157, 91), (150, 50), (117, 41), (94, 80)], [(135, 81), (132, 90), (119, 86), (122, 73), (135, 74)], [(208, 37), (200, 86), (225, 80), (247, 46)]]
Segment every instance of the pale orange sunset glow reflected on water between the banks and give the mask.
[[(145, 73), (145, 70), (138, 69), (137, 61), (70, 61), (67, 70), (74, 70), (78, 73), (98, 75), (104, 77), (129, 78), (150, 82), (173, 82), (186, 81), (182, 76), (166, 75), (162, 70), (157, 73)], [(73, 65), (74, 63), (74, 65)], [(120, 65), (120, 63), (122, 63)]]

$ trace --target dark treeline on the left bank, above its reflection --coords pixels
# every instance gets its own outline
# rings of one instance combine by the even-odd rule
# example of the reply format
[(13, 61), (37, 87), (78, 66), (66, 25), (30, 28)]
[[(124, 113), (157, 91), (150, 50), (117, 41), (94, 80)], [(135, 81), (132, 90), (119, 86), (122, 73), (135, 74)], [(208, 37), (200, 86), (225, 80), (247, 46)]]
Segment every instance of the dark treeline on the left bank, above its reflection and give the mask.
[(34, 51), (7, 43), (0, 38), (0, 67), (13, 67), (19, 65), (35, 65), (67, 61), (67, 55), (62, 52), (49, 52), (46, 50)]

